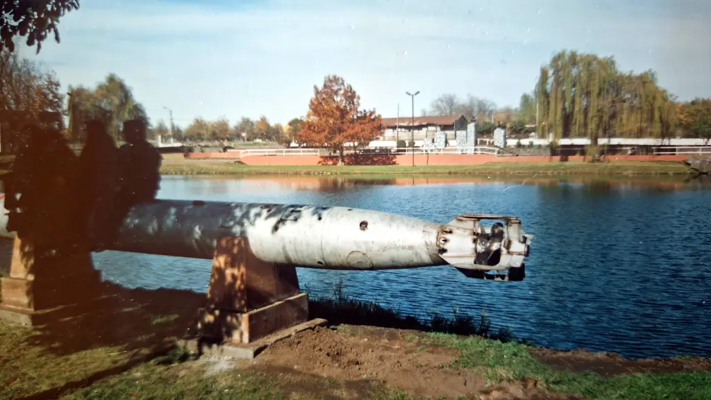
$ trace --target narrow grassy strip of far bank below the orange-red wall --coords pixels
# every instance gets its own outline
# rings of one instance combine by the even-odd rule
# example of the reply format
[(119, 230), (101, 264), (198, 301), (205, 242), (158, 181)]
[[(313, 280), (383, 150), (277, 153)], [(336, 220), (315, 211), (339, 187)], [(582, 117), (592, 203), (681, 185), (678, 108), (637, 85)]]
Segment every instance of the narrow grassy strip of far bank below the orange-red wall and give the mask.
[(166, 159), (161, 167), (166, 175), (407, 175), (434, 176), (691, 176), (681, 162), (541, 162), (490, 163), (460, 166), (250, 166), (215, 160)]

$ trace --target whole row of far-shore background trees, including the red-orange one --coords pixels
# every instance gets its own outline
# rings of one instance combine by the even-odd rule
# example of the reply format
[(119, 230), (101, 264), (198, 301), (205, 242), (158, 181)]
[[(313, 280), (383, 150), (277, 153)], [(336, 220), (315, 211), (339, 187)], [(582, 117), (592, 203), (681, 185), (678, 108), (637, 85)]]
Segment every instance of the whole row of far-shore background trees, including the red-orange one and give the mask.
[[(297, 138), (312, 142), (314, 137), (324, 136), (314, 132), (319, 129), (319, 132), (325, 132), (326, 129), (316, 129), (311, 124), (310, 136), (299, 135), (311, 123), (309, 117), (294, 118), (286, 125), (269, 122), (264, 116), (257, 120), (242, 117), (234, 122), (226, 117), (214, 121), (197, 117), (186, 127), (169, 126), (164, 120), (154, 124), (144, 105), (134, 97), (132, 88), (117, 75), (107, 75), (94, 87), (70, 87), (65, 94), (52, 70), (19, 57), (7, 46), (0, 51), (0, 79), (3, 83), (0, 85), (0, 115), (3, 117), (0, 129), (4, 137), (23, 123), (41, 120), (46, 112), (54, 112), (68, 120), (68, 125), (61, 129), (71, 142), (80, 140), (82, 123), (90, 119), (105, 122), (109, 135), (119, 142), (122, 122), (134, 118), (146, 121), (149, 138), (172, 135), (181, 142), (264, 140), (289, 144)], [(362, 110), (356, 107), (360, 98), (343, 78), (326, 77), (324, 86), (314, 95), (318, 98), (326, 93), (332, 99), (328, 106), (331, 110), (324, 108), (326, 103), (319, 103), (322, 110), (312, 110), (318, 105), (312, 103), (309, 105), (311, 114), (327, 114), (335, 112), (333, 110), (351, 112), (353, 123), (360, 124), (362, 118), (358, 119), (358, 113)], [(601, 137), (678, 136), (711, 140), (710, 98), (679, 102), (658, 85), (652, 70), (623, 73), (612, 57), (601, 58), (574, 51), (561, 51), (543, 65), (538, 83), (533, 91), (521, 95), (518, 107), (497, 107), (491, 100), (471, 94), (460, 99), (445, 93), (434, 99), (429, 110), (422, 110), (420, 115), (460, 113), (467, 120), (476, 120), (477, 130), (483, 134), (501, 124), (514, 134), (536, 132), (541, 138), (552, 134), (555, 140), (563, 137), (595, 140)], [(335, 121), (334, 118), (332, 116), (331, 120)], [(363, 139), (363, 135), (354, 133), (361, 130), (361, 125), (353, 125), (355, 131), (351, 131), (351, 127), (343, 124), (337, 127), (338, 123), (332, 122), (333, 127), (329, 129), (347, 131), (350, 132), (348, 135)]]

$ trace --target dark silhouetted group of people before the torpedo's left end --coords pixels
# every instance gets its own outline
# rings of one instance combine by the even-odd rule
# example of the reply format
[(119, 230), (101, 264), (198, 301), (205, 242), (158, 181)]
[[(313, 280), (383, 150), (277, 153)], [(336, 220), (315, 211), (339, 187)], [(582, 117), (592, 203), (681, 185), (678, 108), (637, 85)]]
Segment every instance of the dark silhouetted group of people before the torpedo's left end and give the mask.
[(88, 121), (85, 132), (80, 157), (59, 130), (27, 125), (20, 132), (24, 145), (6, 179), (7, 228), (36, 255), (102, 251), (131, 206), (158, 193), (163, 157), (147, 142), (143, 120), (124, 122), (119, 149), (102, 122)]

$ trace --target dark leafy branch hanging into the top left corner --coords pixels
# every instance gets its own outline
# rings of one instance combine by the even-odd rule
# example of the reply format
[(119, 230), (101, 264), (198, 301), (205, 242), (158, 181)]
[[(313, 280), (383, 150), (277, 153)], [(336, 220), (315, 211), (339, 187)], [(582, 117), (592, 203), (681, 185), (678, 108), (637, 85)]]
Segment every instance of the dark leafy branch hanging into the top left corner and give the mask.
[(27, 46), (42, 49), (42, 42), (50, 33), (60, 43), (59, 18), (79, 9), (79, 0), (4, 0), (0, 14), (0, 51), (15, 50), (14, 40), (27, 37)]

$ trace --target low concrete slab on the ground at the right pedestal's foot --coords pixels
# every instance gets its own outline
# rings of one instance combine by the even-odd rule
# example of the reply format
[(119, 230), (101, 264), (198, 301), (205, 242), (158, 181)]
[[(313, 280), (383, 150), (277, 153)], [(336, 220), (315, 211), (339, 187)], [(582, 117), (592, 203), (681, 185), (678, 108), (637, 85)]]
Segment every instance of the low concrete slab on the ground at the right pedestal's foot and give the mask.
[(182, 340), (178, 342), (178, 346), (186, 349), (191, 354), (198, 354), (199, 356), (208, 357), (218, 357), (218, 358), (229, 358), (229, 359), (253, 359), (257, 357), (258, 354), (267, 349), (267, 347), (272, 344), (279, 342), (279, 340), (287, 339), (296, 335), (296, 333), (303, 332), (305, 330), (312, 330), (318, 326), (326, 325), (327, 321), (321, 318), (316, 318), (307, 322), (302, 322), (301, 324), (294, 325), (284, 330), (279, 330), (272, 333), (272, 335), (267, 335), (262, 337), (260, 340), (255, 340), (255, 342), (250, 343), (214, 343), (206, 342), (205, 340), (193, 339), (193, 340)]

